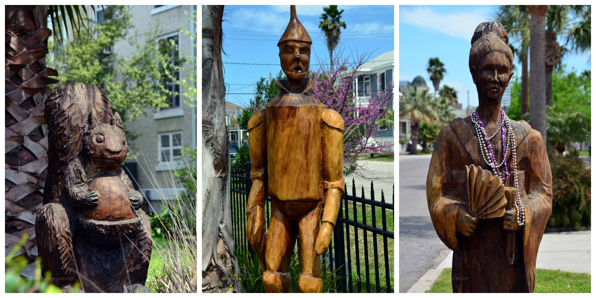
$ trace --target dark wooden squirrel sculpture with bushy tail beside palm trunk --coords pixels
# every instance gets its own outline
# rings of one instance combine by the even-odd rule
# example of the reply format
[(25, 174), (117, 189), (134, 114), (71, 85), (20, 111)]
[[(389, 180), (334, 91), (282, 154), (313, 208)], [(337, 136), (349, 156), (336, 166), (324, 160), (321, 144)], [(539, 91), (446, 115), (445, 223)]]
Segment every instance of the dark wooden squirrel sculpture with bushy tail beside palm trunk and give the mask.
[(63, 83), (49, 95), (48, 178), (35, 232), (42, 268), (63, 290), (147, 292), (151, 226), (120, 164), (122, 120), (97, 86)]

